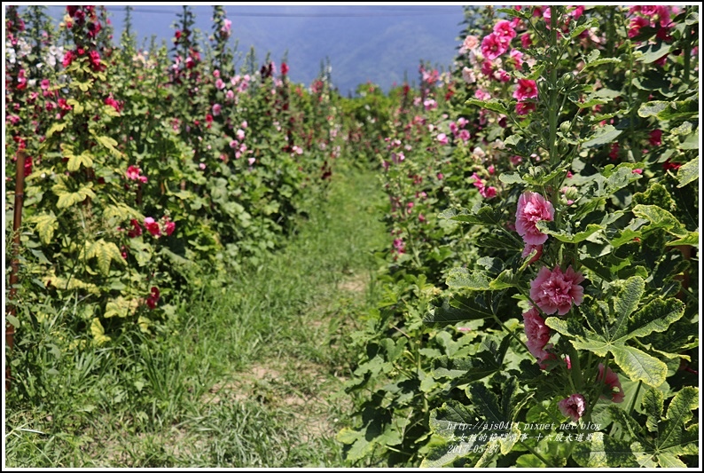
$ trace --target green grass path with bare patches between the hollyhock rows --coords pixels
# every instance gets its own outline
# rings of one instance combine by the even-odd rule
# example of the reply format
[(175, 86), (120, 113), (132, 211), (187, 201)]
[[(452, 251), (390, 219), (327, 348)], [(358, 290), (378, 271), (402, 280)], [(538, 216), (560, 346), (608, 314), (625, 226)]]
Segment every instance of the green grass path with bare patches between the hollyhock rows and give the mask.
[(199, 290), (153, 337), (61, 351), (60, 316), (44, 319), (42, 343), (9, 357), (5, 466), (343, 466), (346, 337), (377, 298), (386, 238), (375, 178), (346, 174), (284, 250)]

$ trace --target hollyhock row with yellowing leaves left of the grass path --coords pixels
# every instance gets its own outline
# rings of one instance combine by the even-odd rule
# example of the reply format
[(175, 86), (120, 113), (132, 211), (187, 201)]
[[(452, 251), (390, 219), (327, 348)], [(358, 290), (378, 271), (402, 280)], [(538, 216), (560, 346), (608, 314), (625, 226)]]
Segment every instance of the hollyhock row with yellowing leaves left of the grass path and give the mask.
[(257, 264), (325, 190), (329, 81), (293, 84), (254, 51), (236, 72), (223, 8), (207, 41), (184, 8), (170, 51), (138, 51), (129, 18), (114, 48), (104, 7), (67, 7), (58, 31), (43, 7), (6, 19), (6, 209), (25, 160), (13, 324), (59, 317), (74, 345), (149, 331), (200, 270), (222, 284)]

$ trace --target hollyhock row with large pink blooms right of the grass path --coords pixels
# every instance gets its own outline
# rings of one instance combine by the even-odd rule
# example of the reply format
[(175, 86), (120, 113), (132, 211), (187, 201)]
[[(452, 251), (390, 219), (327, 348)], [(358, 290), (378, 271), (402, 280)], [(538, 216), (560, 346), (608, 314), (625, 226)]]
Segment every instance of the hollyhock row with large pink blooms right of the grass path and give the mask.
[(355, 335), (348, 460), (696, 465), (697, 7), (466, 25), (379, 150), (386, 292)]

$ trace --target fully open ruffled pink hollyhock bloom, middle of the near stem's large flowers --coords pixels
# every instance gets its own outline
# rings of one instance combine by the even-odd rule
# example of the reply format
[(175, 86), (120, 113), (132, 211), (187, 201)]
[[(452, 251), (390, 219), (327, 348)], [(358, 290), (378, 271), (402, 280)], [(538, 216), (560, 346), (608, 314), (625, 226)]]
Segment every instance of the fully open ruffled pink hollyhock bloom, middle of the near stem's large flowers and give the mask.
[(530, 298), (548, 315), (565, 315), (572, 304), (582, 304), (584, 288), (579, 283), (583, 280), (582, 273), (575, 272), (571, 265), (566, 272), (557, 265), (552, 271), (543, 266), (530, 282)]

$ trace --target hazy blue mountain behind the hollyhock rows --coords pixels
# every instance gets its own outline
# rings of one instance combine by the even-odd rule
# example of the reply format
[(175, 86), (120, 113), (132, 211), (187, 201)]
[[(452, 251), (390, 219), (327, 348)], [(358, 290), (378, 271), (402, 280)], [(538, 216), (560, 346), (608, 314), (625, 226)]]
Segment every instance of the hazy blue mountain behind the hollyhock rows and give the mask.
[[(168, 47), (174, 36), (178, 5), (133, 4), (133, 29), (137, 44), (157, 43)], [(109, 5), (117, 41), (124, 25), (124, 7)], [(277, 65), (288, 51), (289, 73), (293, 82), (309, 84), (320, 72), (321, 61), (330, 59), (332, 83), (340, 93), (355, 91), (360, 83), (371, 81), (387, 91), (403, 83), (404, 73), (418, 83), (420, 60), (447, 69), (454, 59), (457, 37), (463, 27), (462, 6), (454, 5), (226, 5), (232, 21), (232, 44), (239, 40), (244, 55), (251, 46), (261, 61), (271, 53)], [(192, 6), (196, 26), (204, 37), (212, 30), (212, 6)], [(65, 9), (48, 7), (55, 18)], [(242, 66), (243, 61), (239, 62)]]

